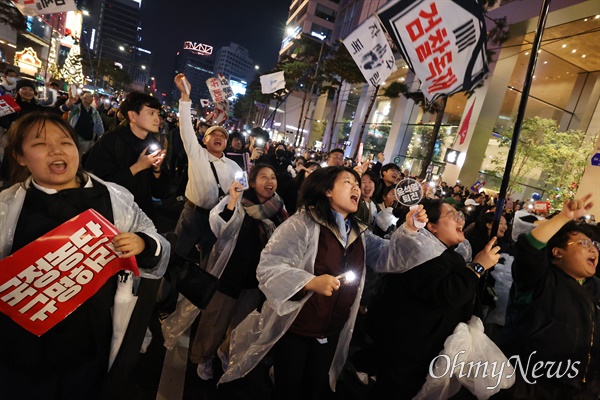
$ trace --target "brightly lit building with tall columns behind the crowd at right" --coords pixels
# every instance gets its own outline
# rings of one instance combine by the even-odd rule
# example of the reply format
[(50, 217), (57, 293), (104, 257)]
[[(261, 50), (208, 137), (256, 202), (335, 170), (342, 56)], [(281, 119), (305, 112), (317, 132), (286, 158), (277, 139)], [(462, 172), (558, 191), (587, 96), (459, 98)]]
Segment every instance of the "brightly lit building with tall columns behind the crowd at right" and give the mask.
[[(333, 38), (343, 39), (372, 15), (386, 1), (363, 2), (341, 0)], [(501, 0), (488, 10), (487, 29), (493, 18), (506, 17), (510, 39), (498, 48), (489, 60), (490, 73), (483, 86), (471, 97), (464, 93), (449, 96), (442, 119), (441, 136), (436, 143), (432, 178), (441, 176), (449, 184), (460, 181), (467, 187), (485, 180), (486, 190), (498, 189), (501, 173), (493, 172), (491, 160), (505, 157), (499, 135), (514, 127), (525, 71), (537, 27), (541, 1)], [(296, 2), (293, 3), (293, 6)], [(600, 133), (600, 15), (595, 0), (555, 0), (544, 29), (541, 50), (535, 69), (524, 118), (543, 117), (557, 122), (560, 131), (581, 130), (588, 139)], [(419, 80), (401, 58), (398, 70), (376, 92), (369, 85), (348, 85), (340, 104), (337, 121), (328, 125), (339, 126), (341, 140), (348, 146), (346, 155), (353, 156), (362, 142), (365, 153), (384, 151), (386, 162), (395, 162), (402, 169), (418, 174), (422, 165), (425, 143), (432, 131), (435, 114), (424, 112), (414, 101), (403, 96), (388, 98), (385, 89), (394, 82), (405, 83), (409, 90), (418, 91)], [(375, 98), (369, 115), (369, 103)], [(464, 141), (457, 132), (471, 110), (470, 123)], [(331, 116), (332, 113), (324, 115)], [(331, 117), (330, 117), (331, 118)], [(288, 116), (288, 120), (290, 117)], [(361, 129), (365, 123), (364, 131)], [(312, 137), (309, 144), (313, 143)], [(339, 143), (339, 142), (338, 142)], [(595, 144), (600, 148), (600, 139)], [(457, 162), (444, 162), (448, 149), (457, 151)], [(591, 158), (591, 157), (590, 157)], [(532, 170), (524, 185), (513, 198), (528, 199), (533, 193), (548, 195), (547, 175)], [(600, 167), (591, 160), (581, 180), (580, 192), (600, 196)], [(570, 182), (567, 182), (570, 184)], [(592, 213), (598, 215), (600, 206)]]

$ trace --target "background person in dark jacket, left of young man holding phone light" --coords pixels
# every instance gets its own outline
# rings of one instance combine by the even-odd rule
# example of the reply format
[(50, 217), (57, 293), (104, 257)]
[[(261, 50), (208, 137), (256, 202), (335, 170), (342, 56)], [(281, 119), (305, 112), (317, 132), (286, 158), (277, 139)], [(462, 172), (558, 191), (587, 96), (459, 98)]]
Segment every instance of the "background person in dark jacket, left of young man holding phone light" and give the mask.
[(86, 153), (104, 134), (104, 124), (100, 113), (92, 106), (94, 96), (83, 92), (79, 104), (69, 110), (69, 123), (79, 135), (79, 153)]

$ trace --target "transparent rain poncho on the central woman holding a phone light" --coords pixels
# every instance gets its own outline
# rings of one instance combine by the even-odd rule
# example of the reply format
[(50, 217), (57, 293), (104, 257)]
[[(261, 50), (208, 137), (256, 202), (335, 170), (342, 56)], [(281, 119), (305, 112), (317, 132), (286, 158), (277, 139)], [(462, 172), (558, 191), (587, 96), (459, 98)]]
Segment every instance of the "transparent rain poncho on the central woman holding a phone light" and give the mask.
[[(320, 227), (308, 211), (300, 211), (275, 230), (261, 254), (256, 272), (259, 288), (267, 300), (260, 313), (252, 312), (233, 331), (229, 367), (219, 383), (241, 378), (250, 372), (285, 334), (302, 306), (312, 296), (313, 292), (308, 292), (298, 301), (290, 300), (315, 277), (314, 261), (318, 252)], [(363, 241), (366, 264), (375, 271), (383, 272), (389, 242), (370, 231), (364, 231), (357, 240)], [(329, 383), (333, 390), (348, 355), (364, 275), (357, 282), (359, 290), (348, 321), (340, 333), (329, 369)]]

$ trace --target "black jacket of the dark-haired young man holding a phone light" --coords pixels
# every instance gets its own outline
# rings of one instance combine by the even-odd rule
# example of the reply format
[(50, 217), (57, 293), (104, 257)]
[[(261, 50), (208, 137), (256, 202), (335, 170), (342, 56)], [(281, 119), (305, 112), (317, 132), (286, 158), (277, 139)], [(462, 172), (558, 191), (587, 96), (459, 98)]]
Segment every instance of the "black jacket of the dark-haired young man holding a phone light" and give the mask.
[(128, 125), (119, 126), (102, 135), (92, 146), (84, 167), (98, 177), (115, 182), (129, 190), (142, 211), (156, 223), (152, 197), (167, 196), (168, 174), (163, 172), (159, 178), (156, 178), (151, 168), (147, 168), (134, 176), (129, 170), (142, 150), (151, 142), (156, 142), (152, 134), (148, 134), (146, 139), (142, 140), (131, 132)]

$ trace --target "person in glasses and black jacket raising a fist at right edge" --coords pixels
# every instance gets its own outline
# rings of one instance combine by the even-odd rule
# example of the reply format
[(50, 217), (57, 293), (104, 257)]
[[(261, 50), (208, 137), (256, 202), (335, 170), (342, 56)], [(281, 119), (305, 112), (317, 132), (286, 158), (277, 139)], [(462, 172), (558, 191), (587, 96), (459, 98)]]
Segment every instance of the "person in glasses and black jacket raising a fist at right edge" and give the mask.
[(515, 367), (517, 380), (505, 398), (600, 396), (600, 279), (594, 276), (600, 238), (576, 222), (592, 206), (591, 194), (566, 200), (559, 214), (517, 239), (500, 348), (529, 368)]

